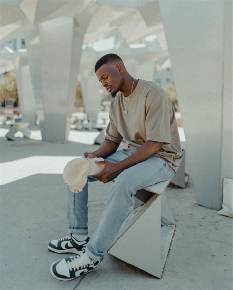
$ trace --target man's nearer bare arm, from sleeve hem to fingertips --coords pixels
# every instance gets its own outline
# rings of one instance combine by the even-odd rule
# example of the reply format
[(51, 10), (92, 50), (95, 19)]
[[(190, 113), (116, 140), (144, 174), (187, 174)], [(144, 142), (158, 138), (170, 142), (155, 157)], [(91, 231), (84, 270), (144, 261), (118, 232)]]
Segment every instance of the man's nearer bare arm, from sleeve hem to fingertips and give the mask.
[(105, 164), (105, 167), (100, 173), (93, 175), (93, 177), (98, 178), (103, 183), (107, 183), (116, 178), (125, 169), (148, 159), (155, 154), (162, 145), (162, 142), (146, 141), (134, 154), (118, 163), (96, 161), (97, 164)]

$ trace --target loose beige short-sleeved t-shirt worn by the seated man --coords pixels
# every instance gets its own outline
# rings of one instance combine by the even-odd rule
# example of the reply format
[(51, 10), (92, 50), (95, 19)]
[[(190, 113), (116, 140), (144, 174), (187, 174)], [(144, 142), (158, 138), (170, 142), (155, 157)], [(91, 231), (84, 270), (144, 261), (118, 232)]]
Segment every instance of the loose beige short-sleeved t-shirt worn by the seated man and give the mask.
[[(119, 92), (111, 100), (105, 139), (119, 144), (124, 139), (128, 148), (123, 152), (127, 155), (135, 153), (148, 140), (163, 142), (153, 156), (164, 159), (176, 172), (182, 150), (175, 110), (168, 93), (151, 81), (139, 79), (130, 102), (129, 98)], [(125, 114), (127, 104), (128, 113)]]

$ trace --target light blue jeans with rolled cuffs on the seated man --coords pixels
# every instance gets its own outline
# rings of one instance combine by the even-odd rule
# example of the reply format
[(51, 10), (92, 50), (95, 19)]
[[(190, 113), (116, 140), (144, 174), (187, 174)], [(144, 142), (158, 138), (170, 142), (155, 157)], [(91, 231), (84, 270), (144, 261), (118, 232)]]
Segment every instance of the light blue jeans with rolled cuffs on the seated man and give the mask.
[[(120, 150), (104, 159), (117, 163), (127, 157)], [(168, 180), (174, 175), (175, 171), (163, 159), (153, 156), (121, 172), (111, 185), (110, 198), (99, 225), (87, 244), (87, 255), (95, 260), (103, 260), (134, 204), (137, 190)], [(88, 176), (81, 193), (73, 193), (67, 186), (68, 234), (88, 235), (88, 182), (96, 180), (98, 179)]]

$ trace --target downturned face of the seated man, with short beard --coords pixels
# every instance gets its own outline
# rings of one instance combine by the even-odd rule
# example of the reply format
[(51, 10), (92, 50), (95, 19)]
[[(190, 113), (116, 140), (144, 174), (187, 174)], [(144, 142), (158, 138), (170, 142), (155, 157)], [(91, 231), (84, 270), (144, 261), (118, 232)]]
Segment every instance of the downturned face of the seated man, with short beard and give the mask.
[(102, 86), (111, 93), (112, 97), (120, 91), (122, 86), (122, 66), (117, 65), (116, 62), (111, 62), (108, 64), (103, 64), (97, 71), (96, 76), (98, 80), (102, 83)]

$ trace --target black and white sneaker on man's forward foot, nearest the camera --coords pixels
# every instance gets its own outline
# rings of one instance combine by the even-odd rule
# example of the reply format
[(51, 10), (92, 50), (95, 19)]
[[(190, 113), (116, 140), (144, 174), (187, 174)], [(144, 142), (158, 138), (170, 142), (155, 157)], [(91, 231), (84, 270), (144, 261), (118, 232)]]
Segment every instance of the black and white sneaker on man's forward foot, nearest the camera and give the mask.
[(101, 261), (94, 261), (81, 253), (77, 256), (64, 258), (50, 266), (50, 274), (57, 280), (69, 281), (93, 271)]

